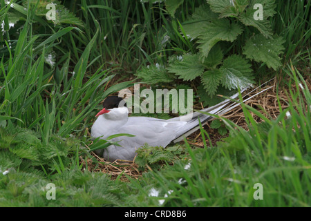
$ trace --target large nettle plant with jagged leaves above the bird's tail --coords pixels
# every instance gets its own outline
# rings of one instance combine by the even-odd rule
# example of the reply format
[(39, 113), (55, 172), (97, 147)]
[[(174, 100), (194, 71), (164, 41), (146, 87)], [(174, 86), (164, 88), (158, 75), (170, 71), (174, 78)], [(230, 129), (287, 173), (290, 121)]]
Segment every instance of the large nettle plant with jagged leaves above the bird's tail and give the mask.
[[(263, 20), (254, 19), (257, 13), (255, 3), (261, 3), (263, 6)], [(174, 6), (179, 5), (175, 3)], [(223, 90), (223, 95), (229, 95), (231, 90), (254, 83), (252, 66), (247, 59), (266, 64), (268, 68), (276, 70), (282, 65), (279, 56), (284, 49), (284, 41), (282, 37), (272, 37), (268, 18), (275, 14), (275, 7), (272, 0), (207, 1), (196, 8), (191, 17), (180, 25), (180, 33), (185, 36), (185, 41), (189, 43), (189, 39), (195, 39), (198, 51), (177, 57), (182, 57), (181, 59), (172, 56), (168, 61), (167, 72), (177, 75), (183, 81), (194, 81), (200, 77), (205, 92), (198, 94), (199, 97), (202, 99), (207, 93), (212, 100), (220, 86), (227, 89)], [(245, 33), (242, 36), (243, 32)], [(228, 45), (225, 41), (233, 44), (235, 41), (243, 42), (243, 54), (246, 58), (242, 56), (242, 51), (240, 54), (232, 54), (225, 49)], [(191, 50), (195, 51), (193, 48)], [(151, 83), (147, 76), (152, 75), (152, 70), (142, 71), (144, 75), (140, 74), (138, 77)], [(162, 83), (167, 82), (164, 76), (168, 73), (164, 70), (161, 72), (164, 79)], [(209, 99), (205, 100), (211, 105), (213, 102), (209, 102)]]

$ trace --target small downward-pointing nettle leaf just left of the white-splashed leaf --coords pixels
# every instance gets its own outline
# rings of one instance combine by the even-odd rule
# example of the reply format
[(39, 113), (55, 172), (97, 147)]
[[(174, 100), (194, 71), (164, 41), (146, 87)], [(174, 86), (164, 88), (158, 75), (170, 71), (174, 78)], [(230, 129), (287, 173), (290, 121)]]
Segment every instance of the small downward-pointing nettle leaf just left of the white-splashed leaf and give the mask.
[(207, 70), (203, 73), (201, 80), (205, 90), (210, 96), (215, 95), (222, 78), (223, 73), (219, 69)]

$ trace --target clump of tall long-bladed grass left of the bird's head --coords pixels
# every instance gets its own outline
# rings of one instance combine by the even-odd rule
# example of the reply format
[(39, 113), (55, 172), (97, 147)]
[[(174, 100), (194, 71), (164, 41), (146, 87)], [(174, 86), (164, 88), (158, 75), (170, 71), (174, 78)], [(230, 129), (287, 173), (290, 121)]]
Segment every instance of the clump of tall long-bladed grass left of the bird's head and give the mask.
[[(29, 12), (35, 12), (30, 9)], [(44, 144), (48, 144), (50, 135), (55, 133), (62, 137), (70, 133), (84, 134), (86, 124), (91, 122), (95, 108), (104, 97), (131, 85), (131, 81), (115, 84), (100, 93), (115, 75), (109, 75), (102, 67), (88, 75), (89, 65), (96, 60), (90, 60), (90, 54), (99, 29), (74, 66), (70, 52), (59, 58), (64, 62), (62, 68), (46, 65), (50, 50), (56, 48), (55, 42), (80, 30), (75, 27), (55, 28), (51, 35), (33, 35), (35, 25), (30, 22), (30, 17), (27, 19), (29, 21), (24, 23), (15, 47), (6, 44), (10, 56), (0, 61), (1, 124), (16, 123), (35, 129), (43, 137)]]

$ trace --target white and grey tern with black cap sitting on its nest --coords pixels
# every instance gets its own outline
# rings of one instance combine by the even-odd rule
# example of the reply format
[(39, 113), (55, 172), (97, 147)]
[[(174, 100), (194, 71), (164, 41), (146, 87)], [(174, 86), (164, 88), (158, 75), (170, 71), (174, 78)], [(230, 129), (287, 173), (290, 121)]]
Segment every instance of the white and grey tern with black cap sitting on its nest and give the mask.
[[(241, 93), (246, 89), (243, 88)], [(238, 97), (238, 93), (232, 95), (231, 98), (235, 99), (236, 97)], [(188, 115), (190, 118), (184, 116), (158, 119), (153, 117), (129, 117), (129, 110), (124, 99), (117, 96), (107, 97), (104, 100), (102, 110), (96, 115), (97, 119), (91, 128), (91, 137), (93, 139), (96, 137), (106, 139), (119, 133), (128, 133), (134, 135), (134, 137), (115, 137), (110, 141), (117, 142), (120, 146), (111, 144), (111, 146), (95, 152), (111, 162), (115, 160), (131, 161), (136, 155), (135, 151), (144, 144), (166, 147), (171, 142), (180, 142), (184, 137), (198, 130), (198, 119), (204, 124), (207, 120), (214, 118), (205, 113), (220, 115), (238, 105), (230, 99), (226, 99), (215, 106), (202, 109), (200, 112), (190, 113)]]

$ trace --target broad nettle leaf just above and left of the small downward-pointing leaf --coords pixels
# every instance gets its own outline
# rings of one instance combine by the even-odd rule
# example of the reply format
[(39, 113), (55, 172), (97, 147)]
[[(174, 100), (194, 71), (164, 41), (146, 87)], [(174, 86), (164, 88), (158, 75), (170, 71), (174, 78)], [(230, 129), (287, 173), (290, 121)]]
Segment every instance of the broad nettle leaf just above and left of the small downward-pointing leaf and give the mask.
[(169, 73), (175, 73), (180, 79), (185, 81), (193, 80), (202, 75), (203, 64), (199, 61), (199, 55), (183, 55), (182, 59), (177, 59), (169, 63), (167, 67)]

